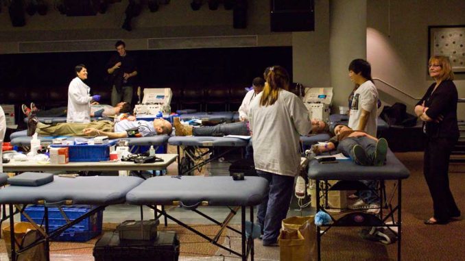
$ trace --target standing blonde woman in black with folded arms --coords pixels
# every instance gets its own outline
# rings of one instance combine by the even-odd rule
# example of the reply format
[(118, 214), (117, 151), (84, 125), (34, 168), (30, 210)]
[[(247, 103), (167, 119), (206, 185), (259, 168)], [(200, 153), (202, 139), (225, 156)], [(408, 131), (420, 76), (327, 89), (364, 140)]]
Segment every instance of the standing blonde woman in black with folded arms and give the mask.
[(460, 136), (457, 125), (457, 88), (449, 58), (429, 59), (429, 76), (435, 83), (416, 104), (415, 113), (423, 121), (427, 136), (423, 173), (433, 198), (434, 215), (426, 225), (446, 224), (460, 217), (449, 188), (449, 158)]

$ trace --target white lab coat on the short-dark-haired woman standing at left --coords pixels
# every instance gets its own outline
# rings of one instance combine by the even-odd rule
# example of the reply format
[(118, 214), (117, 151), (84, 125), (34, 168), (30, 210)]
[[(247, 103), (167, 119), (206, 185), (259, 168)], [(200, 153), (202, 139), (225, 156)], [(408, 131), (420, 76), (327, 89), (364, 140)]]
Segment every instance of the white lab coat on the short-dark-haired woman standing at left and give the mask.
[(91, 121), (91, 88), (75, 77), (68, 88), (67, 123), (89, 123)]

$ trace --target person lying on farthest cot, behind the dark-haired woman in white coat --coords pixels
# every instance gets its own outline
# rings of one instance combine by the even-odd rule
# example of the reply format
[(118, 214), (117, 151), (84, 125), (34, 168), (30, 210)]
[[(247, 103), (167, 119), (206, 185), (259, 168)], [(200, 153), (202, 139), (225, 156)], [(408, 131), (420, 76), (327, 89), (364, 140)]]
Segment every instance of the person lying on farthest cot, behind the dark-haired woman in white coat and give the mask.
[[(39, 110), (34, 103), (31, 103), (31, 108), (28, 108), (27, 105), (21, 105), (21, 110), (23, 110), (23, 114), (29, 116), (31, 114), (35, 114), (38, 117), (61, 117), (67, 116), (68, 108), (58, 107), (52, 108), (49, 110)], [(129, 103), (121, 101), (115, 107), (112, 105), (104, 105), (99, 103), (91, 104), (91, 117), (111, 117), (115, 116), (120, 113), (128, 113), (131, 112), (132, 108)]]

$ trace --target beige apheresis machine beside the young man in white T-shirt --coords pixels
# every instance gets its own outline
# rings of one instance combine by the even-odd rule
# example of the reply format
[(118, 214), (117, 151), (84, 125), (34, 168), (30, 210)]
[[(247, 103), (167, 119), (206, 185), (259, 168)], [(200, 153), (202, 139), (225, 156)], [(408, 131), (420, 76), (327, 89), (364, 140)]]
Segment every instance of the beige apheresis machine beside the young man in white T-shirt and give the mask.
[(309, 110), (310, 119), (319, 119), (328, 123), (333, 102), (333, 88), (305, 88), (303, 102)]

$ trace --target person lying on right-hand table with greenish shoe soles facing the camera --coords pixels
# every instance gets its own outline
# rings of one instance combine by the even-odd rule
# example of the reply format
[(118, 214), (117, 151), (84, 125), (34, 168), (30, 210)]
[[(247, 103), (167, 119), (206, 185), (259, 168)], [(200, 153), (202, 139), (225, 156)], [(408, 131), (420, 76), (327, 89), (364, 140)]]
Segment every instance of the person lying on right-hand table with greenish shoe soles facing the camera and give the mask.
[(337, 149), (362, 166), (383, 166), (386, 153), (388, 152), (388, 141), (385, 138), (374, 138), (363, 131), (355, 131), (346, 125), (336, 125), (335, 136), (325, 145), (314, 146), (313, 152), (320, 154), (325, 151)]

